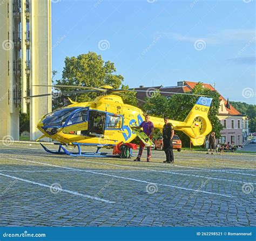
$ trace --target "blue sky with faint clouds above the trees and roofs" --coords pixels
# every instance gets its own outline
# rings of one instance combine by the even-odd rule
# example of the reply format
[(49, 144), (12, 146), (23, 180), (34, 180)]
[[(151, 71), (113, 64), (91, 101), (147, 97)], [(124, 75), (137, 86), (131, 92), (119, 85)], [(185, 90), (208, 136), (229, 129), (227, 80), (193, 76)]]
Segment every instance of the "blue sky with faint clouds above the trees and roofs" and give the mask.
[(255, 104), (255, 0), (51, 0), (52, 70), (66, 56), (96, 52), (124, 84), (210, 83)]

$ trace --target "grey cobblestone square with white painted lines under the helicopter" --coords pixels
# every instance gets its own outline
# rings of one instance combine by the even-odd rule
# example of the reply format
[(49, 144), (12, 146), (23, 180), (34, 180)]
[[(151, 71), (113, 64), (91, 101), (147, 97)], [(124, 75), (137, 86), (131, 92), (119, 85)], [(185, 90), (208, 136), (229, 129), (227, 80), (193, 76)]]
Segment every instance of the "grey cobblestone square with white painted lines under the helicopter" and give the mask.
[(149, 163), (72, 158), (0, 143), (0, 225), (256, 225), (256, 155), (174, 155), (174, 164), (163, 151)]

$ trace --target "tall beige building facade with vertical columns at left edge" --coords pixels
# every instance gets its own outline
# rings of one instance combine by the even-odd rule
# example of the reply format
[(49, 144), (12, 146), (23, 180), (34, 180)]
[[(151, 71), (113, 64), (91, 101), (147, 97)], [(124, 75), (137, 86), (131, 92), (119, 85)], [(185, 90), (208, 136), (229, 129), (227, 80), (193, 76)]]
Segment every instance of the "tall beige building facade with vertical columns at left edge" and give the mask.
[(19, 139), (19, 112), (30, 113), (30, 140), (38, 120), (51, 111), (51, 1), (0, 1), (0, 139)]

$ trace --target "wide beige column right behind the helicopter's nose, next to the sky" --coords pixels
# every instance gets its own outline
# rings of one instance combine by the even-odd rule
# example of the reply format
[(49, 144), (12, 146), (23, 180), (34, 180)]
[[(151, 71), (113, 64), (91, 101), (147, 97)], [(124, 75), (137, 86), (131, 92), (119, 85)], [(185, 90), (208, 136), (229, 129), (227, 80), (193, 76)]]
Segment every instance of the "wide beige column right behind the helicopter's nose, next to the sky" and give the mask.
[[(30, 95), (50, 93), (51, 88), (51, 1), (30, 0)], [(39, 119), (51, 111), (51, 96), (30, 100), (30, 139), (42, 135), (37, 129)], [(47, 139), (48, 140), (48, 139)]]

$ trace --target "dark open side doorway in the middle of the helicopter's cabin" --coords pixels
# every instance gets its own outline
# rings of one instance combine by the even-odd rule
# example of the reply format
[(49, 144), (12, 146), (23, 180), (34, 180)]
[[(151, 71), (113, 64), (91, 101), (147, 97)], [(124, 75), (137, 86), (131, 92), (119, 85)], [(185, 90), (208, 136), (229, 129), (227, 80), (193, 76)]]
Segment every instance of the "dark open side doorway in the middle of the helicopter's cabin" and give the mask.
[(87, 136), (103, 137), (105, 129), (106, 114), (105, 112), (90, 110), (89, 127), (86, 131)]

